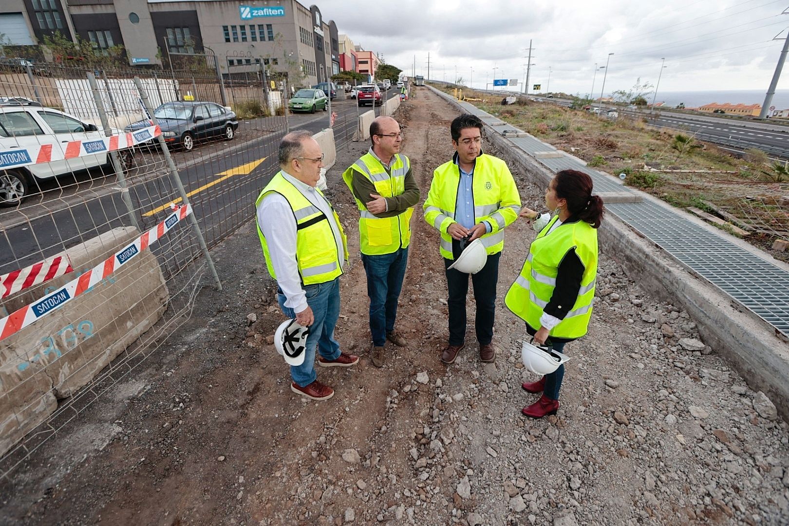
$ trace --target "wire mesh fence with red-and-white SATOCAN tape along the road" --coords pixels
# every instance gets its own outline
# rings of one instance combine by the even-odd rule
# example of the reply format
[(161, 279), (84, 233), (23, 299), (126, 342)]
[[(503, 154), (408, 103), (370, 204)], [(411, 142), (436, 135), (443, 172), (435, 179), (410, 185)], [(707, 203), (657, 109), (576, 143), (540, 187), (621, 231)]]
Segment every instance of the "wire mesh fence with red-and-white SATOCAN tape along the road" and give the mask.
[(286, 77), (246, 63), (217, 75), (211, 60), (0, 65), (6, 479), (154, 353), (201, 286), (221, 286), (208, 249), (254, 218), (286, 132), (331, 128), (337, 148), (359, 135), (357, 99), (286, 111)]

